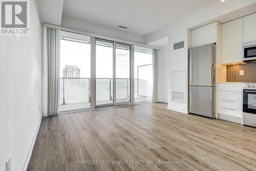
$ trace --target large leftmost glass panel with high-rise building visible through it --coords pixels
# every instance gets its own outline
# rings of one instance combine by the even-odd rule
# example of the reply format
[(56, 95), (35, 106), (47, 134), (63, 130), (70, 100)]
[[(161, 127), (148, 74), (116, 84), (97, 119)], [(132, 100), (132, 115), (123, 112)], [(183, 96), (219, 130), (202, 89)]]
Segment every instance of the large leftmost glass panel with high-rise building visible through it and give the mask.
[(59, 112), (91, 108), (91, 37), (60, 32)]

